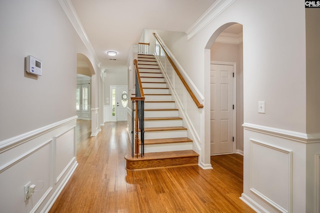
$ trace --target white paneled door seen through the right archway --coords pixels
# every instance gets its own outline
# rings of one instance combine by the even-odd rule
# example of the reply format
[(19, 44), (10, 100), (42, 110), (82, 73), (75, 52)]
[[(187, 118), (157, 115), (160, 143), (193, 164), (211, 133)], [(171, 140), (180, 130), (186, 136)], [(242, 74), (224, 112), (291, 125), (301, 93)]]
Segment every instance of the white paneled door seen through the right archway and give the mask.
[(210, 154), (233, 153), (233, 65), (211, 64)]

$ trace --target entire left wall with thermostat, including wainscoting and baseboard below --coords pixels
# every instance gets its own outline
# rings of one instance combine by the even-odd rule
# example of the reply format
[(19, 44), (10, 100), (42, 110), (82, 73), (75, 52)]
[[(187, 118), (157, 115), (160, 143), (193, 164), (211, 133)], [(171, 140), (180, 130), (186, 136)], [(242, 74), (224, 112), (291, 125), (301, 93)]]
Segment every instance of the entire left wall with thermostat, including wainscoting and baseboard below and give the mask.
[[(1, 211), (47, 211), (77, 165), (76, 34), (57, 0), (1, 1), (0, 28)], [(27, 55), (42, 76), (25, 73)]]

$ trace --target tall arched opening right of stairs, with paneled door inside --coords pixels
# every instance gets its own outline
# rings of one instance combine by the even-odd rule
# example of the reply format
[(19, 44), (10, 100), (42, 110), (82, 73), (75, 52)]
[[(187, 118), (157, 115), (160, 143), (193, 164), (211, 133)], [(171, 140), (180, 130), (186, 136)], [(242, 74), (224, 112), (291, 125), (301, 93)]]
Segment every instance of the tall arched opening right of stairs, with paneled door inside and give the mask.
[(242, 25), (222, 25), (206, 48), (210, 49), (210, 155), (243, 155)]

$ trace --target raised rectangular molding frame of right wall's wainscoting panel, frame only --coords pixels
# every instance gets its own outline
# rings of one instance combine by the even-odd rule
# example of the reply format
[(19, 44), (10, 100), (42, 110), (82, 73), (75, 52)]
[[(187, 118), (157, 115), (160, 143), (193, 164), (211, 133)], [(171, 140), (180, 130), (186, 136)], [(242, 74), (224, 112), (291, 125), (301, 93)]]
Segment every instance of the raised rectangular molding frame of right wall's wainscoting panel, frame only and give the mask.
[(279, 146), (274, 146), (265, 142), (261, 142), (261, 141), (256, 141), (256, 140), (252, 140), (251, 141), (251, 148), (250, 148), (250, 159), (253, 159), (253, 152), (252, 152), (252, 146), (253, 144), (257, 144), (259, 146), (263, 146), (265, 148), (268, 149), (272, 149), (278, 152), (282, 152), (284, 154), (287, 154), (287, 160), (288, 160), (288, 206), (287, 206), (287, 210), (285, 210), (283, 207), (279, 206), (277, 203), (275, 203), (274, 201), (272, 201), (270, 198), (264, 196), (262, 193), (260, 193), (258, 190), (254, 189), (252, 187), (252, 161), (250, 161), (249, 163), (249, 189), (252, 193), (254, 193), (255, 195), (257, 195), (258, 197), (260, 197), (261, 199), (263, 199), (265, 202), (269, 203), (271, 206), (273, 206), (274, 208), (276, 208), (278, 211), (282, 212), (282, 213), (291, 213), (292, 212), (292, 180), (293, 180), (293, 173), (292, 173), (292, 168), (293, 168), (293, 160), (292, 160), (292, 155), (293, 155), (293, 151), (292, 150), (288, 150)]

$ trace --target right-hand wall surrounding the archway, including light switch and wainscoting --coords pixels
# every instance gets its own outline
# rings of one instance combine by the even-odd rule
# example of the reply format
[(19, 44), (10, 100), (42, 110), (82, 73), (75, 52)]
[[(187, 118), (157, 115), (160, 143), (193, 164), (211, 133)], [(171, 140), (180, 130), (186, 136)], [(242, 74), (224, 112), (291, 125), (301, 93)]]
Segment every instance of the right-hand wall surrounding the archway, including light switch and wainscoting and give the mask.
[[(311, 15), (314, 16), (318, 17)], [(314, 40), (319, 34), (318, 18), (311, 20), (312, 27), (307, 27), (306, 31), (305, 9), (299, 0), (281, 3), (277, 0), (236, 0), (211, 17), (214, 18), (190, 28), (189, 34), (159, 32), (204, 94), (206, 115), (201, 125), (205, 128), (206, 143), (209, 139), (206, 126), (210, 48), (221, 31), (238, 22), (243, 25), (244, 174), (241, 199), (259, 212), (315, 212), (319, 203), (315, 196), (319, 179), (312, 171), (319, 171), (318, 163), (314, 163), (320, 153), (320, 119), (315, 110), (320, 103), (315, 94), (319, 76), (315, 72), (318, 63), (314, 58), (309, 61), (306, 47), (310, 54), (319, 51)], [(313, 40), (307, 46), (306, 32), (313, 34)], [(315, 48), (311, 45), (314, 42)], [(315, 90), (309, 92), (312, 86)], [(258, 101), (265, 101), (265, 114), (258, 113)], [(260, 176), (261, 168), (269, 178)]]

